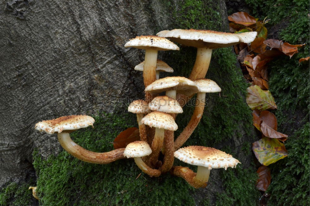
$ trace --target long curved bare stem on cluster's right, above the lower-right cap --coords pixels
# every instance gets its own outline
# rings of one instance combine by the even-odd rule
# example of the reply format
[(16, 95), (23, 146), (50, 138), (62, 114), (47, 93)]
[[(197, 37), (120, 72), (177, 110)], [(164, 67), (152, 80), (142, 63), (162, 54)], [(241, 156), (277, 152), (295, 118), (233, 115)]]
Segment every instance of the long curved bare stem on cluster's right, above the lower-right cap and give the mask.
[(178, 150), (186, 142), (186, 140), (193, 133), (198, 123), (200, 122), (202, 114), (203, 114), (203, 110), (206, 105), (205, 98), (206, 98), (205, 92), (197, 93), (196, 106), (195, 106), (194, 113), (191, 117), (191, 120), (188, 122), (187, 126), (184, 128), (184, 130), (175, 140), (174, 142), (175, 151)]

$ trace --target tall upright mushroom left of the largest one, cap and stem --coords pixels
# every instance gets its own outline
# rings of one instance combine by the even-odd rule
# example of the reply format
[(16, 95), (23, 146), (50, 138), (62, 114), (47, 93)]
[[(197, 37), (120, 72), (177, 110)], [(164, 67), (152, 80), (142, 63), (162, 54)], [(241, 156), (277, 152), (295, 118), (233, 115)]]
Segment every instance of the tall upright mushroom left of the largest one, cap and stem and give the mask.
[[(125, 44), (125, 47), (145, 49), (143, 80), (144, 86), (156, 80), (156, 62), (159, 50), (179, 50), (179, 47), (166, 38), (159, 36), (136, 36)], [(152, 96), (145, 94), (147, 101), (151, 101)]]

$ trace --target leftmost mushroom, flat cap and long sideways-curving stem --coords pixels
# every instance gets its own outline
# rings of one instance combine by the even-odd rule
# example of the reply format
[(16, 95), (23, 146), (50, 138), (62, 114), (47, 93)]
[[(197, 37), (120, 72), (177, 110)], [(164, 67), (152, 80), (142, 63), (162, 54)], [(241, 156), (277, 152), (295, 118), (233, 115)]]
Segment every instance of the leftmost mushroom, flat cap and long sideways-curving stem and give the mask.
[(35, 129), (38, 131), (44, 131), (47, 134), (57, 133), (58, 141), (60, 145), (74, 157), (79, 160), (96, 163), (96, 164), (108, 164), (118, 159), (125, 158), (123, 153), (125, 148), (119, 148), (110, 152), (91, 152), (78, 144), (76, 144), (71, 138), (70, 134), (80, 128), (92, 126), (95, 122), (94, 118), (86, 115), (71, 115), (65, 117), (59, 117), (52, 120), (46, 120), (38, 122), (35, 125)]

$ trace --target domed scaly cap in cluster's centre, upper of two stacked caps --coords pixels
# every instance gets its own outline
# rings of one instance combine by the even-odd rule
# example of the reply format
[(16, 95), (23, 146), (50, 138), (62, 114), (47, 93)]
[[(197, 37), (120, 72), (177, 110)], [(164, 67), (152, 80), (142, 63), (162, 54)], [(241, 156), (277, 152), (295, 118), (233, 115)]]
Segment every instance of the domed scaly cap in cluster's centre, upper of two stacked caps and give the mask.
[(165, 113), (183, 113), (183, 109), (176, 99), (168, 96), (155, 97), (149, 104), (148, 108), (152, 111)]

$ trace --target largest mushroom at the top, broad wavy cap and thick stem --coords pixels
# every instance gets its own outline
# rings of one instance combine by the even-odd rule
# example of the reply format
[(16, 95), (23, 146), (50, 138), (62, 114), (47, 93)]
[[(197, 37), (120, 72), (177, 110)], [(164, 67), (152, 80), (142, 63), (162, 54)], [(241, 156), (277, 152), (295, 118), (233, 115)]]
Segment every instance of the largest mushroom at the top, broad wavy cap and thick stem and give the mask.
[(256, 37), (257, 32), (244, 32), (232, 34), (215, 32), (211, 30), (173, 29), (161, 31), (156, 35), (169, 38), (185, 46), (197, 48), (196, 61), (188, 79), (195, 80), (205, 78), (209, 68), (212, 49), (228, 47), (240, 42), (250, 43)]

